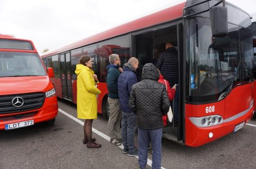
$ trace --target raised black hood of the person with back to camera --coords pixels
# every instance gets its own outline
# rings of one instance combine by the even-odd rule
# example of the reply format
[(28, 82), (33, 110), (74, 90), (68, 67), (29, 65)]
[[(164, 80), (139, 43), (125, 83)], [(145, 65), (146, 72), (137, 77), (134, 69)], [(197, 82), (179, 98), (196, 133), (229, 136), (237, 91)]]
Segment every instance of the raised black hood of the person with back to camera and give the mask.
[(142, 69), (142, 80), (144, 79), (151, 79), (151, 80), (155, 80), (158, 81), (159, 79), (159, 72), (155, 66), (155, 64), (153, 63), (146, 63), (143, 66)]

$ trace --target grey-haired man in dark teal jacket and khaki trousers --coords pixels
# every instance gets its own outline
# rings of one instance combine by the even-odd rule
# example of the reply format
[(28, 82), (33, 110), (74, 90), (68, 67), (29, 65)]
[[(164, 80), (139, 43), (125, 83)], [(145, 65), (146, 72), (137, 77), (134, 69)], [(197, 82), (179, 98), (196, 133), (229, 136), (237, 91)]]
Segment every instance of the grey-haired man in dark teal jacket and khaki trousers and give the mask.
[(121, 145), (121, 110), (118, 96), (118, 77), (123, 69), (120, 67), (121, 61), (118, 54), (110, 55), (110, 64), (107, 66), (107, 90), (108, 104), (110, 105), (110, 116), (108, 119), (108, 133), (110, 134), (110, 142), (114, 146)]

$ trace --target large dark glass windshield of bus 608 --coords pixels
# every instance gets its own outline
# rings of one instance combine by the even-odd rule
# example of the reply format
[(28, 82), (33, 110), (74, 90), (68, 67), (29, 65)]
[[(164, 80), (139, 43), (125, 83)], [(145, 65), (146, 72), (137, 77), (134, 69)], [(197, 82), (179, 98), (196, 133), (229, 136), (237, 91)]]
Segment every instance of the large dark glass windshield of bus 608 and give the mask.
[(188, 20), (186, 101), (221, 100), (234, 86), (249, 81), (252, 35), (250, 28), (240, 25), (228, 23), (227, 36), (214, 38), (205, 14)]

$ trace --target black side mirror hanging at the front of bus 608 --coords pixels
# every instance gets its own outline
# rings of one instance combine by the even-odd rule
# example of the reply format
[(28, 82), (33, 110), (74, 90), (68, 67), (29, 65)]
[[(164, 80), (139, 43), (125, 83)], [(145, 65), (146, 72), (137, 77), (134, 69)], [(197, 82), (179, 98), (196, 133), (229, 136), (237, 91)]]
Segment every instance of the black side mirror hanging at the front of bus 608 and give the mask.
[(210, 9), (210, 25), (213, 37), (225, 37), (228, 34), (228, 10), (225, 6), (213, 6)]

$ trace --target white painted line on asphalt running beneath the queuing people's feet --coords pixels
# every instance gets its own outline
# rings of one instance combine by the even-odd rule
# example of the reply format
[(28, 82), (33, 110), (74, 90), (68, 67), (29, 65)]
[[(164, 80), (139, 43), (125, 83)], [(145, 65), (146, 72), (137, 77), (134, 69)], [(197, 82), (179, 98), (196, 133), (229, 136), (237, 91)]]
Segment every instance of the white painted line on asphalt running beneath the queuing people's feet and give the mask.
[[(78, 122), (80, 125), (84, 126), (84, 122), (75, 118), (73, 115), (70, 115), (68, 114), (67, 112), (65, 111), (62, 111), (62, 109), (59, 108), (59, 112), (68, 116), (69, 118), (73, 119), (74, 121)], [(95, 133), (95, 134), (98, 134), (100, 137), (106, 139), (107, 141), (110, 141), (110, 137), (108, 137), (106, 134), (104, 133), (101, 133), (100, 131), (98, 131), (97, 129), (93, 128), (92, 127), (92, 131)], [(121, 144), (120, 146), (118, 146), (119, 148), (121, 148), (122, 150), (124, 150), (124, 146), (123, 144)], [(138, 157), (136, 157), (138, 159)], [(147, 163), (150, 167), (152, 167), (152, 161), (150, 159), (148, 159), (148, 163)], [(165, 169), (164, 167), (161, 167), (162, 169)]]

